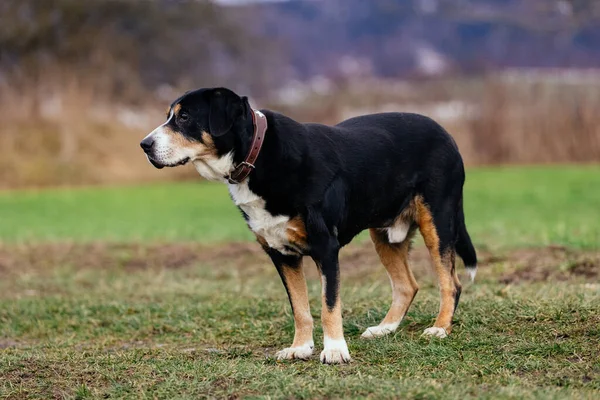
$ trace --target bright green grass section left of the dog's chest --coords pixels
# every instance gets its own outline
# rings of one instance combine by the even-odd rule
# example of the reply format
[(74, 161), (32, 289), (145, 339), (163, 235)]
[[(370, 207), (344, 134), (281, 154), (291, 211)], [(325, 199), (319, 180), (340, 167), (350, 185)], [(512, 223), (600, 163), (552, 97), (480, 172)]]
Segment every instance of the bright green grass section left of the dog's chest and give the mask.
[(0, 220), (6, 242), (251, 238), (226, 187), (205, 182), (5, 192)]

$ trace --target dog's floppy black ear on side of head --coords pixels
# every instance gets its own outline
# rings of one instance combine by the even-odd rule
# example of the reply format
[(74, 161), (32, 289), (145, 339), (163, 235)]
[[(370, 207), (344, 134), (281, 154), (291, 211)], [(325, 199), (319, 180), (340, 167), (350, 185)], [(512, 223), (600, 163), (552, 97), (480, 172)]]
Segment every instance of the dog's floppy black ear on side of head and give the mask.
[(212, 136), (223, 136), (242, 116), (242, 99), (231, 90), (218, 88), (210, 94), (208, 128)]

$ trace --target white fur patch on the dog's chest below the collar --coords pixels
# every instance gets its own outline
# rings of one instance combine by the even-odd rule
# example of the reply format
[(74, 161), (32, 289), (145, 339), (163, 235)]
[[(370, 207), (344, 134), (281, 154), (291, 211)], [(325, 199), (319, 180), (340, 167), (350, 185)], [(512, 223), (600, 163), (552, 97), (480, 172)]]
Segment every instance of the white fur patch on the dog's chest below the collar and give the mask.
[(228, 184), (229, 193), (236, 206), (248, 216), (248, 226), (252, 232), (262, 236), (267, 244), (281, 252), (291, 254), (286, 246), (290, 246), (288, 239), (289, 217), (285, 215), (272, 215), (265, 209), (265, 200), (257, 196), (248, 187), (248, 180), (238, 185)]

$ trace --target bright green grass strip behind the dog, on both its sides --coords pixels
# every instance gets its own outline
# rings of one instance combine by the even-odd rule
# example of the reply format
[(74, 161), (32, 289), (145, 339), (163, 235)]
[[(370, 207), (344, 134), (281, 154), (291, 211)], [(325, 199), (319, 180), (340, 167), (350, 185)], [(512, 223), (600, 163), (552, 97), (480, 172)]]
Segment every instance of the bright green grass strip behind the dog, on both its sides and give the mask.
[[(600, 167), (468, 171), (467, 226), (479, 246), (598, 247)], [(0, 193), (0, 241), (253, 240), (225, 185), (205, 182)]]

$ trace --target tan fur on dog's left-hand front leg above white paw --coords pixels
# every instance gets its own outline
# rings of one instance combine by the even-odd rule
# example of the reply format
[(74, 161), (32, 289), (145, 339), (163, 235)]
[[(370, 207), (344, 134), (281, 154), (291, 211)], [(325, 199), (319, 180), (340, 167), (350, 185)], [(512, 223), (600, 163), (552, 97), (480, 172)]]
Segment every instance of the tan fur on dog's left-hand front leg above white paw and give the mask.
[(291, 347), (300, 347), (306, 345), (313, 339), (313, 319), (310, 314), (310, 305), (308, 302), (308, 290), (306, 288), (306, 279), (302, 262), (297, 268), (284, 265), (282, 274), (287, 285), (287, 290), (292, 303), (294, 312), (294, 343)]

